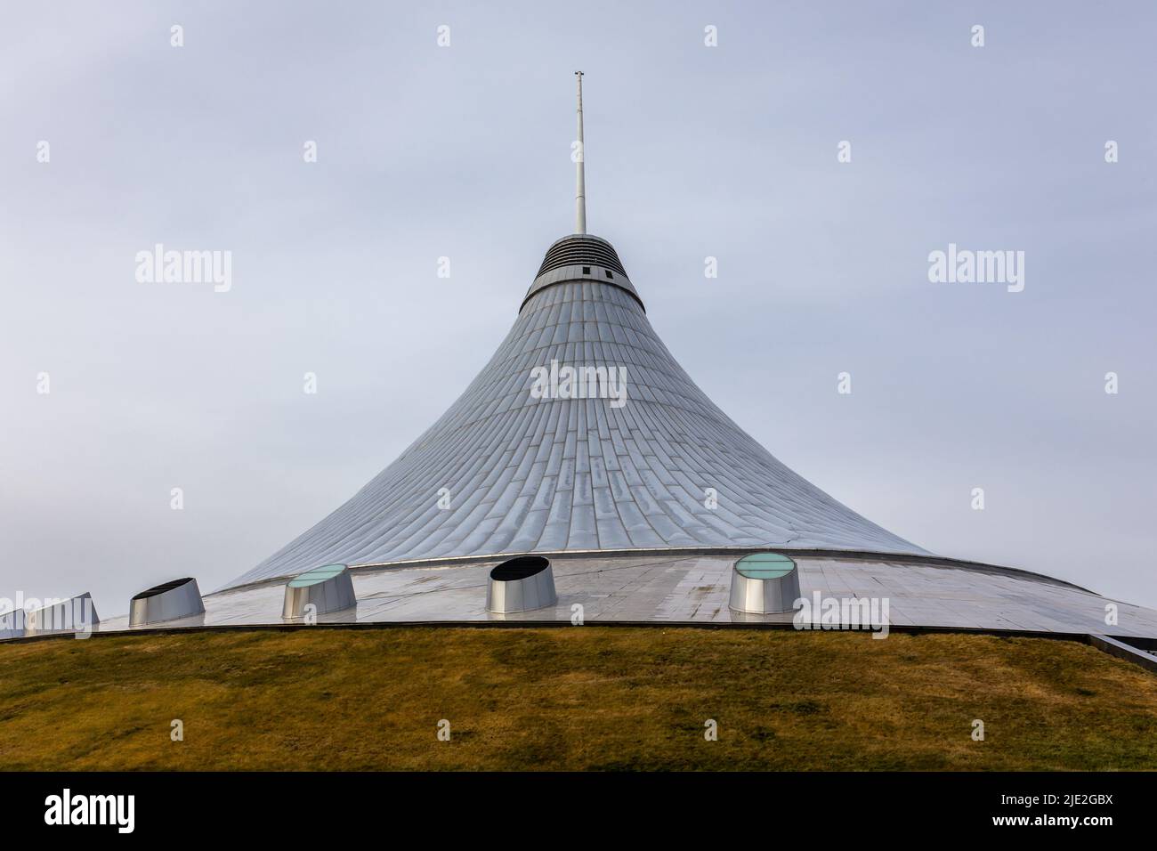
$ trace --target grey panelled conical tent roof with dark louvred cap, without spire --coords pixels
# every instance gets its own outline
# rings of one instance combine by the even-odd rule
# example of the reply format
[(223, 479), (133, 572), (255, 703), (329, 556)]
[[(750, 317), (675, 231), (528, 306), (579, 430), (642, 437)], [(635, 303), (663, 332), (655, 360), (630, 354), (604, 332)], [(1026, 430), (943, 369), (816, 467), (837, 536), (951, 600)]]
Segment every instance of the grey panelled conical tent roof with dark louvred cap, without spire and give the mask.
[[(621, 384), (594, 390), (625, 394), (574, 397), (576, 387), (544, 384), (552, 365), (555, 375), (602, 368)], [(928, 555), (732, 423), (656, 336), (614, 248), (576, 234), (550, 248), (514, 327), (458, 401), (230, 586), (331, 563), (752, 546)]]

